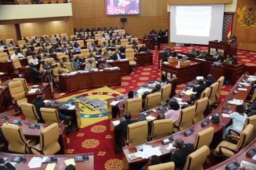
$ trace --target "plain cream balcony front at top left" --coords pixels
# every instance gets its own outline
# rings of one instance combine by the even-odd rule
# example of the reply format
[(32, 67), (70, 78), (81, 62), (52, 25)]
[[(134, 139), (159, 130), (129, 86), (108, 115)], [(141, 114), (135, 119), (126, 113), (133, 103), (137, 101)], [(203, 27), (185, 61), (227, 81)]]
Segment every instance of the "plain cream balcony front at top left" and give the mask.
[(0, 5), (0, 20), (72, 16), (71, 3)]

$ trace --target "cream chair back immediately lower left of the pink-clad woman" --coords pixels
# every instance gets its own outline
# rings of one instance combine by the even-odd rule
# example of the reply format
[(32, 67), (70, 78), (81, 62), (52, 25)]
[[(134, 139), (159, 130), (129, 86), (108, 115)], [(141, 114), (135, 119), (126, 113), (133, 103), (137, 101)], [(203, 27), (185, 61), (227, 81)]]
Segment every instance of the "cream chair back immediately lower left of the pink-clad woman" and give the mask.
[(159, 139), (173, 132), (173, 120), (172, 119), (161, 119), (154, 120), (151, 129), (152, 140)]

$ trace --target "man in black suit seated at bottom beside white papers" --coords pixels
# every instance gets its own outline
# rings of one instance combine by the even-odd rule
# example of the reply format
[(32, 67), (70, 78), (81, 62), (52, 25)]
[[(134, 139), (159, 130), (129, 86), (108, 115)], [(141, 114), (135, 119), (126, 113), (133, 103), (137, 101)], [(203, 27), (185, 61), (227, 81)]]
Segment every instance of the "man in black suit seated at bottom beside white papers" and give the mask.
[(175, 167), (183, 170), (187, 156), (193, 152), (193, 145), (191, 143), (184, 143), (182, 139), (176, 139), (174, 143), (176, 149), (171, 150), (171, 160)]

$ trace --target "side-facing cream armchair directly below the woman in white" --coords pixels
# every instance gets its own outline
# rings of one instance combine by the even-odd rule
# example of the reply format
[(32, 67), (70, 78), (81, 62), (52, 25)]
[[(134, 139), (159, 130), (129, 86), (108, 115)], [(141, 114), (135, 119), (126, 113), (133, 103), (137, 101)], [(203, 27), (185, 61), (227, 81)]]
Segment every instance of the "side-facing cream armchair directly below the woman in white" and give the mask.
[(249, 139), (252, 136), (254, 129), (254, 125), (247, 125), (246, 128), (242, 131), (240, 140), (237, 144), (230, 143), (227, 141), (222, 141), (219, 145), (215, 148), (214, 152), (220, 156), (225, 158), (230, 158), (234, 156), (237, 152), (243, 149), (249, 142)]

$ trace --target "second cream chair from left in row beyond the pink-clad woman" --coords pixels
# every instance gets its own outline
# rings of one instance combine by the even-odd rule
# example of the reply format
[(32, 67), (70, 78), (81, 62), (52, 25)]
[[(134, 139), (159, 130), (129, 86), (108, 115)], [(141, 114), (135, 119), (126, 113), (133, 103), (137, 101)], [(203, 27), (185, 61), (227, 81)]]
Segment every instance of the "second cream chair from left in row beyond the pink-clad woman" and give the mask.
[(157, 107), (161, 104), (161, 93), (153, 93), (146, 96), (145, 108), (146, 110)]

